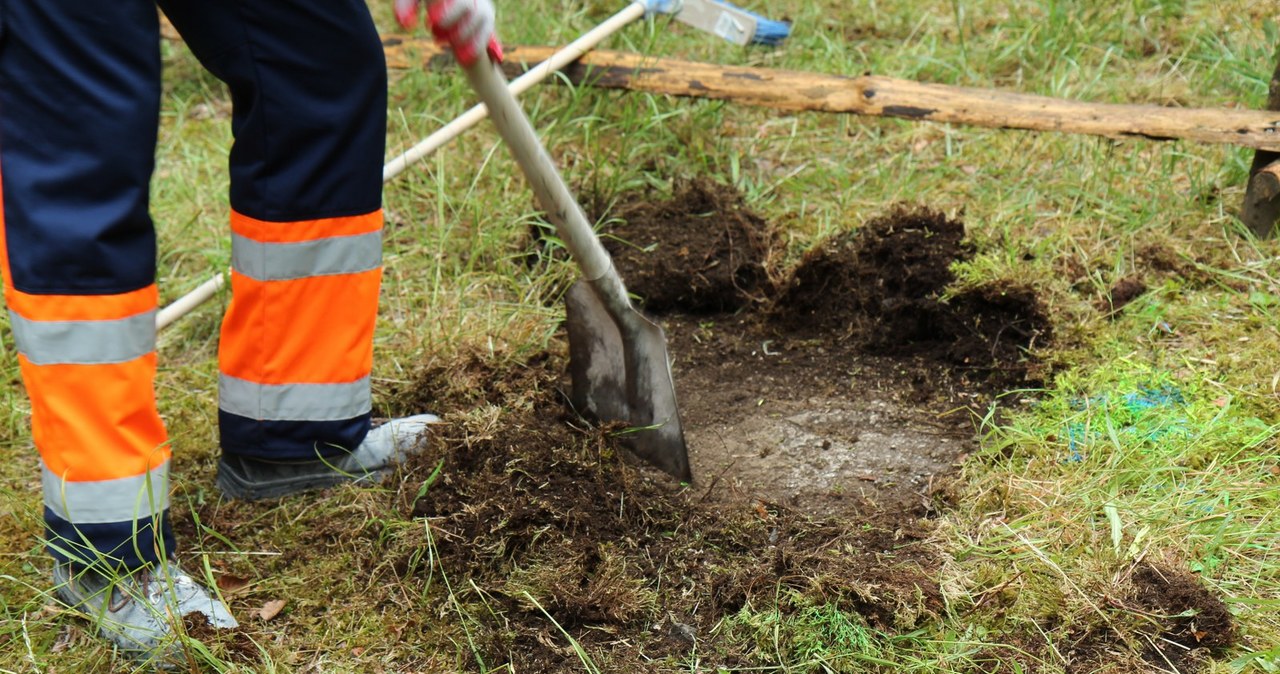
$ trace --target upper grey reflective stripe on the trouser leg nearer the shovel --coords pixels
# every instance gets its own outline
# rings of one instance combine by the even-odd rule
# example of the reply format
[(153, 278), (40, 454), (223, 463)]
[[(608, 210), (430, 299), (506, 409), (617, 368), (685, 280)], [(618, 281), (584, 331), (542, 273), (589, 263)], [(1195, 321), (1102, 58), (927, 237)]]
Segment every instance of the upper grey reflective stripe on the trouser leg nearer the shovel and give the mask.
[(260, 281), (358, 274), (381, 263), (381, 231), (301, 243), (261, 243), (232, 234), (232, 269)]

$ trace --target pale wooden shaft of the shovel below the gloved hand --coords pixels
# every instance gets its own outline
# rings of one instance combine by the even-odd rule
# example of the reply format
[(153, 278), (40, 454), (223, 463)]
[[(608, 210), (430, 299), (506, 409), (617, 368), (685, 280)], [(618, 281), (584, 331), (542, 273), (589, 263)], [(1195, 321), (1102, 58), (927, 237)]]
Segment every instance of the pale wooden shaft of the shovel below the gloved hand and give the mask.
[[(556, 231), (582, 269), (582, 275), (593, 284), (602, 279), (605, 280), (605, 283), (596, 285), (600, 289), (607, 289), (609, 295), (614, 295), (602, 298), (607, 306), (630, 307), (626, 290), (621, 279), (617, 279), (618, 274), (613, 269), (608, 251), (604, 249), (600, 239), (586, 221), (582, 207), (570, 193), (568, 185), (561, 178), (550, 155), (538, 139), (532, 124), (507, 88), (506, 78), (488, 59), (481, 59), (466, 67), (465, 70), (471, 88), (489, 107), (489, 119), (493, 120), (498, 134), (511, 148), (516, 164), (520, 165), (520, 170), (538, 197), (538, 202), (547, 211), (552, 224), (556, 225)], [(605, 279), (605, 276), (612, 278)]]

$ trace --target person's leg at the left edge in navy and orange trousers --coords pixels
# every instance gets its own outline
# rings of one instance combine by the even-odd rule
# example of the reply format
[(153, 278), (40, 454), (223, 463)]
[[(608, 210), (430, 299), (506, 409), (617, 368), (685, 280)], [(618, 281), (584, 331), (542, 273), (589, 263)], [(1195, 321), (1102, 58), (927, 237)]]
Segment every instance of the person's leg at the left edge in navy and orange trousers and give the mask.
[[(147, 214), (157, 43), (155, 6), (142, 0), (0, 4), (0, 269), (42, 459), (47, 549), (72, 604), (104, 604), (119, 578), (177, 573)], [(187, 613), (221, 610), (196, 599)], [(108, 627), (119, 618), (108, 613), (99, 627), (113, 638), (142, 627)], [(148, 634), (115, 641), (148, 650), (166, 631)]]

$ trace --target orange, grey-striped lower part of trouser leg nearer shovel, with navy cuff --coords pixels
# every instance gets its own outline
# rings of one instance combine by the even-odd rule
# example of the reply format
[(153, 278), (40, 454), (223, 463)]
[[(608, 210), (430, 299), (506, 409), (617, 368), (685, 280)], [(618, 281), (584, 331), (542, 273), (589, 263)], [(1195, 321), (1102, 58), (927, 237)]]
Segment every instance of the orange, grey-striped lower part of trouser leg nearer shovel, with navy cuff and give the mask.
[(372, 404), (381, 226), (381, 211), (294, 223), (233, 214), (224, 449), (301, 459), (358, 444)]

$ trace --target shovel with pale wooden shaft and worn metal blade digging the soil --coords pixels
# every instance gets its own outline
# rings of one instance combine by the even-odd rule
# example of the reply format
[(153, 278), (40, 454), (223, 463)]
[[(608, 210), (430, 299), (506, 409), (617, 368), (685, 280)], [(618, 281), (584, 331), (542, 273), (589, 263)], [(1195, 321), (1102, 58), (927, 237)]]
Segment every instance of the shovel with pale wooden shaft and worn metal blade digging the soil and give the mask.
[(582, 280), (564, 297), (573, 407), (599, 421), (626, 423), (622, 439), (637, 457), (678, 480), (692, 480), (662, 327), (631, 306), (613, 260), (497, 65), (481, 56), (463, 69), (556, 231), (582, 269)]

